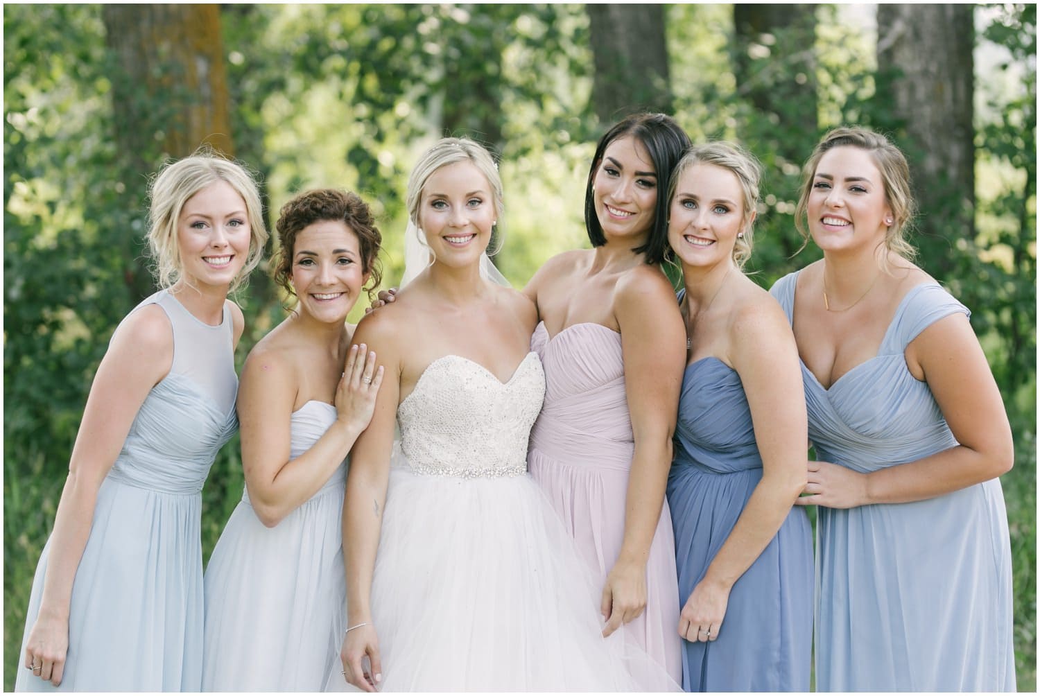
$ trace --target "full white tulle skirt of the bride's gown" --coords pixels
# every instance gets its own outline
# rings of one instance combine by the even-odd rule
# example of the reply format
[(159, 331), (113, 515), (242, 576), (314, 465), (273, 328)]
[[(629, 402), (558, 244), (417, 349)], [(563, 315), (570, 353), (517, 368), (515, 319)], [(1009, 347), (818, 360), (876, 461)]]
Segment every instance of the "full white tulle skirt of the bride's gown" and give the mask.
[(381, 691), (678, 691), (624, 629), (602, 637), (599, 600), (528, 474), (391, 469), (371, 594)]

